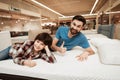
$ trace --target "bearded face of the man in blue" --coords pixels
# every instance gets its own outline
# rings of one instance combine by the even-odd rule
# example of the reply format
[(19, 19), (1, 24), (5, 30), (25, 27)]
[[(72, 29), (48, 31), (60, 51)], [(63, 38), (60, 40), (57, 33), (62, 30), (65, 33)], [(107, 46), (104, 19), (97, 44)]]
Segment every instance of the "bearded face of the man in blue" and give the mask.
[(70, 32), (72, 35), (78, 34), (83, 28), (83, 22), (78, 20), (73, 20), (71, 22)]

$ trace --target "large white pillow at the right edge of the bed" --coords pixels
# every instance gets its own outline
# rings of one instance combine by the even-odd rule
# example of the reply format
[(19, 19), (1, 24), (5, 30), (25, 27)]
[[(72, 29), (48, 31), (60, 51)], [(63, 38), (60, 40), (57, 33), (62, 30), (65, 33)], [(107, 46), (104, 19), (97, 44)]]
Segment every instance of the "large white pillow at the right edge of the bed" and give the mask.
[(98, 46), (98, 53), (102, 63), (120, 65), (120, 41), (112, 40)]

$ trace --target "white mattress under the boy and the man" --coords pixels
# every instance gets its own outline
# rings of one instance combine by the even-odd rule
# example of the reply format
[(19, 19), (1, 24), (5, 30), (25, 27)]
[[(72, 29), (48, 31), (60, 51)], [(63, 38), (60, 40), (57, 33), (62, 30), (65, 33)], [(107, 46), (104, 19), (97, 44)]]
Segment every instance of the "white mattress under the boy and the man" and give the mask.
[(67, 51), (64, 56), (55, 53), (57, 63), (37, 59), (37, 66), (33, 68), (14, 64), (12, 60), (0, 61), (0, 73), (48, 80), (120, 80), (120, 66), (101, 64), (97, 53), (80, 62), (75, 58), (80, 53), (82, 50), (78, 48)]

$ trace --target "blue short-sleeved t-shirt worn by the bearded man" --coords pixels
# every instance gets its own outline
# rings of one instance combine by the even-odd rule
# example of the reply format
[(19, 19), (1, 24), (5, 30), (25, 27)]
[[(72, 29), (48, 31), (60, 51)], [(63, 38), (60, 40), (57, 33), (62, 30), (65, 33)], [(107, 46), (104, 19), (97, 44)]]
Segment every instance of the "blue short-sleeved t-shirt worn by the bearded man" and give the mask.
[(82, 48), (90, 47), (87, 38), (81, 32), (72, 38), (68, 37), (69, 27), (61, 26), (56, 32), (56, 38), (59, 40), (57, 46), (61, 46), (64, 41), (64, 47), (67, 50), (71, 50), (75, 46), (80, 46)]

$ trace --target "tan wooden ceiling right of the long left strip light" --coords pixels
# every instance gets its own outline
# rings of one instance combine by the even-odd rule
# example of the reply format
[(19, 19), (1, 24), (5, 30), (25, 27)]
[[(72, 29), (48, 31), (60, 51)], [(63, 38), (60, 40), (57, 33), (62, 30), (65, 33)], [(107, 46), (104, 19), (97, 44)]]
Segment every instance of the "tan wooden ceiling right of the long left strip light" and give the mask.
[[(30, 1), (38, 7), (40, 5)], [(57, 11), (58, 13), (64, 16), (73, 16), (77, 14), (90, 14), (93, 5), (96, 0), (36, 0), (39, 3), (49, 7), (50, 9)], [(92, 14), (98, 13), (98, 11), (120, 11), (120, 0), (98, 0), (95, 8), (92, 11)]]

